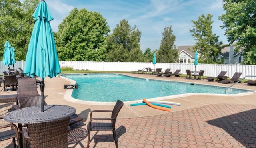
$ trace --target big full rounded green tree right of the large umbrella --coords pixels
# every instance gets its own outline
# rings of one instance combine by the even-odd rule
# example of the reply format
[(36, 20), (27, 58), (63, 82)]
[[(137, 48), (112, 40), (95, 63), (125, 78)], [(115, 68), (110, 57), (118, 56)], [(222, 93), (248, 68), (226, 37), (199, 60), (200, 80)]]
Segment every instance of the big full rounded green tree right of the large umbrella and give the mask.
[(56, 48), (63, 61), (105, 61), (106, 19), (98, 12), (74, 8), (58, 26)]

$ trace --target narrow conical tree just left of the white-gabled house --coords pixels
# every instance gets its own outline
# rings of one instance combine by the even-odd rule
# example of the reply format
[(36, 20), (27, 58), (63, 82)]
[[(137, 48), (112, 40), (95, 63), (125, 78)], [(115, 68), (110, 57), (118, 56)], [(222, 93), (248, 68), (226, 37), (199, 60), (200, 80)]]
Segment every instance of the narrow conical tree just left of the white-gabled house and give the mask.
[(172, 26), (170, 26), (165, 27), (162, 33), (162, 41), (156, 53), (156, 61), (160, 63), (178, 63), (178, 49), (177, 46), (174, 45), (176, 37), (172, 32)]

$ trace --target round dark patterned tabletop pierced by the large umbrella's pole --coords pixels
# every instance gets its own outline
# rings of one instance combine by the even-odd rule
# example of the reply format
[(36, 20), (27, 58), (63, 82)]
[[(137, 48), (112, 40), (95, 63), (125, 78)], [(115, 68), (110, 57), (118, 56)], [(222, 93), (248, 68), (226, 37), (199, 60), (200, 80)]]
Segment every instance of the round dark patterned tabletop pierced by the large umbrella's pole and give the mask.
[(44, 112), (41, 112), (41, 106), (33, 106), (8, 112), (4, 116), (4, 120), (24, 124), (42, 123), (66, 118), (75, 112), (74, 107), (67, 105), (44, 105)]

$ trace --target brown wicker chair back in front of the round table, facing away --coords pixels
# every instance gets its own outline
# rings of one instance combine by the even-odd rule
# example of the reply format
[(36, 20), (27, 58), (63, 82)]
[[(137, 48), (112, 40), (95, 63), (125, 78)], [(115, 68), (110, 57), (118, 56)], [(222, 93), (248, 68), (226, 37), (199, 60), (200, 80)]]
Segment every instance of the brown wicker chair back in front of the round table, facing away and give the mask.
[(50, 122), (27, 124), (22, 128), (23, 148), (67, 148), (70, 116)]

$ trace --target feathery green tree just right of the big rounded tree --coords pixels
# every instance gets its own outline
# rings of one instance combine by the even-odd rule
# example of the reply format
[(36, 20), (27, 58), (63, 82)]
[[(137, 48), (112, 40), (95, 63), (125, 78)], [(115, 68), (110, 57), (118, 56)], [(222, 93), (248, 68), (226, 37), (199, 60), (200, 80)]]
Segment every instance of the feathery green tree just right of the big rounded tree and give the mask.
[(127, 20), (121, 20), (113, 33), (107, 37), (108, 53), (106, 61), (144, 61), (140, 49), (141, 31), (131, 27)]

